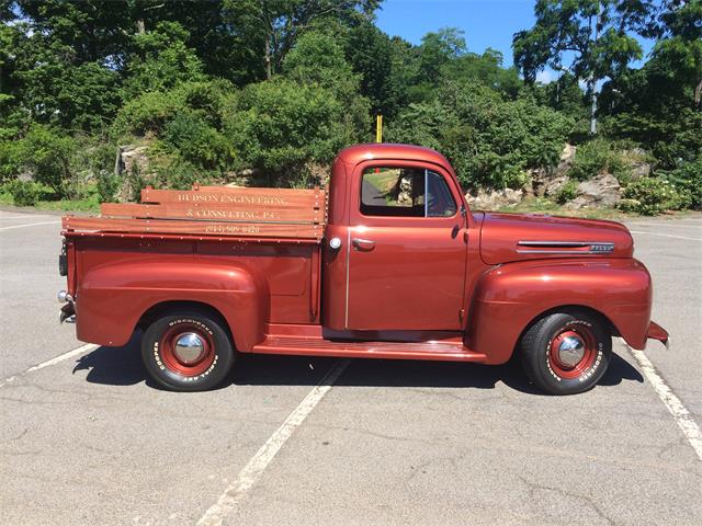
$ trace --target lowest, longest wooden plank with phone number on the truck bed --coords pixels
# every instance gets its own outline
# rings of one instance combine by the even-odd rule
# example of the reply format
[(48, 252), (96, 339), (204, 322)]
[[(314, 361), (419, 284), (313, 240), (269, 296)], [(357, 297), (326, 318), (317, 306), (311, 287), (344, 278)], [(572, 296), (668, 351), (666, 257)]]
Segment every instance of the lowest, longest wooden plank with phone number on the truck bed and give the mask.
[(65, 216), (65, 230), (123, 233), (181, 233), (196, 236), (236, 236), (320, 239), (321, 225), (274, 222), (189, 221), (178, 219), (133, 219)]

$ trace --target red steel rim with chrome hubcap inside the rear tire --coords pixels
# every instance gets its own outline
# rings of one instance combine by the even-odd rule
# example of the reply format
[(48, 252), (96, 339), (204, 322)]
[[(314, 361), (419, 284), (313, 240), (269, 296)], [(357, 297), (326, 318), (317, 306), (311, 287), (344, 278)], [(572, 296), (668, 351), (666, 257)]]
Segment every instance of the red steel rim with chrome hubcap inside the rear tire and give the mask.
[(202, 375), (215, 359), (214, 342), (206, 331), (193, 323), (169, 328), (159, 341), (159, 354), (173, 373)]

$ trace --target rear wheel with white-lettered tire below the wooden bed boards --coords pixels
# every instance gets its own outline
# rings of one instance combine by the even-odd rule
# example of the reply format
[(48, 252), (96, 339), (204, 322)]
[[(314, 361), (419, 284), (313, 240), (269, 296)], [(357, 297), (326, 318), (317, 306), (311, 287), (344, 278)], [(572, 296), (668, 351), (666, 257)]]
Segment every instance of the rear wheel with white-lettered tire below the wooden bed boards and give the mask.
[(235, 351), (224, 323), (205, 312), (182, 310), (152, 322), (141, 339), (149, 375), (174, 391), (212, 389), (226, 378)]

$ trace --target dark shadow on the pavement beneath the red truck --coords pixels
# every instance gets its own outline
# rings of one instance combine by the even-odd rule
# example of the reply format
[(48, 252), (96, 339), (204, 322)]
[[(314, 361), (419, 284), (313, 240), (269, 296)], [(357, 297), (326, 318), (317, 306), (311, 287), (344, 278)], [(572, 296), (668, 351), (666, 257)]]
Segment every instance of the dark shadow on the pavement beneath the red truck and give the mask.
[[(222, 387), (239, 386), (316, 386), (339, 358), (305, 356), (240, 355), (234, 374)], [(139, 335), (123, 347), (99, 347), (81, 356), (73, 374), (87, 370), (86, 380), (110, 386), (133, 386), (141, 381), (159, 388), (146, 376), (139, 352)], [(616, 354), (600, 380), (600, 386), (623, 381), (642, 384), (644, 378)], [(494, 389), (502, 382), (511, 389), (541, 395), (523, 375), (519, 362), (499, 366), (455, 362), (394, 359), (354, 359), (336, 381), (337, 386), (424, 387)]]

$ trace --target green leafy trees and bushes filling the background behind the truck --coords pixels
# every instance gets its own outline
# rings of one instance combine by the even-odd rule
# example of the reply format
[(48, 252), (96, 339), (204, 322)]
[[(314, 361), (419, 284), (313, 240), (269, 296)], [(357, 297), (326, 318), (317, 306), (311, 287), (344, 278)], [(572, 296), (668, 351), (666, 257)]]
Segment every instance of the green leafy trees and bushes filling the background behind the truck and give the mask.
[[(624, 206), (701, 206), (699, 1), (537, 0), (534, 26), (514, 35), (514, 67), (469, 49), (455, 27), (420, 45), (390, 37), (374, 23), (380, 4), (4, 2), (4, 194), (134, 199), (145, 184), (188, 187), (245, 169), (305, 185), (340, 148), (370, 140), (380, 113), (386, 139), (438, 149), (469, 190), (528, 184), (566, 140), (578, 148), (561, 201), (604, 170), (626, 185), (625, 144), (650, 155), (657, 176), (631, 183)], [(655, 44), (634, 69), (641, 36)], [(536, 82), (544, 69), (556, 81)], [(114, 173), (117, 145), (139, 145), (146, 162)]]

